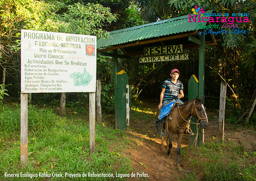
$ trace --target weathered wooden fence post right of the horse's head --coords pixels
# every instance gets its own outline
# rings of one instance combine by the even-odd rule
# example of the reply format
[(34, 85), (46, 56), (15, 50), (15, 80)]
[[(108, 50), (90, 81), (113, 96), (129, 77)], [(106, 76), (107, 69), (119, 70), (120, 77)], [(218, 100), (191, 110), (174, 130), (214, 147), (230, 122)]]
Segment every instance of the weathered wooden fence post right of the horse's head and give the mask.
[(220, 113), (219, 113), (219, 140), (224, 140), (224, 120), (226, 105), (227, 83), (221, 82)]

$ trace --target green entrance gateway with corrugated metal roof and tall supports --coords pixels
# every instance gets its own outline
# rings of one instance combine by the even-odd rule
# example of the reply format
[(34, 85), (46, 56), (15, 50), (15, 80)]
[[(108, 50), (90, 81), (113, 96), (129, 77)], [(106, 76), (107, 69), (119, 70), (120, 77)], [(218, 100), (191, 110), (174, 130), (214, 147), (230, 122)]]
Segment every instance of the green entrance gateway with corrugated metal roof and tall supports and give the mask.
[[(207, 11), (206, 13), (211, 12), (212, 11)], [(198, 23), (189, 23), (188, 21), (188, 15), (175, 17), (168, 20), (112, 31), (106, 39), (101, 37), (97, 40), (97, 53), (99, 55), (113, 57), (115, 88), (117, 86), (116, 73), (119, 72), (117, 58), (131, 59), (133, 56), (143, 55), (143, 49), (145, 47), (175, 45), (179, 42), (183, 44), (183, 49), (199, 49), (199, 83), (197, 95), (199, 98), (203, 98), (205, 49), (210, 49), (210, 46), (217, 45), (217, 42), (220, 40), (216, 40), (213, 34), (205, 35), (202, 33), (201, 36), (199, 36), (197, 29)], [(208, 22), (202, 22), (201, 25), (206, 26), (207, 23)], [(117, 54), (118, 49), (122, 51), (122, 55)], [(197, 95), (189, 99), (193, 99)], [(115, 114), (117, 114), (116, 111)], [(116, 123), (117, 122), (118, 118), (116, 116)], [(118, 126), (116, 126), (116, 128), (118, 128)], [(204, 141), (203, 135), (199, 135), (199, 137), (202, 137), (201, 141)]]

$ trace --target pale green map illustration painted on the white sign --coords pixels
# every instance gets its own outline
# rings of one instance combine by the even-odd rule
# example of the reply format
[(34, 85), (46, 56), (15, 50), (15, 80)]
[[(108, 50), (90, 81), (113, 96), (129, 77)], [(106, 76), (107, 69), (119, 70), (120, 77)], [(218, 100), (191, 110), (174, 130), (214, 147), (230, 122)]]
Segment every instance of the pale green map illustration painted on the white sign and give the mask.
[(84, 72), (74, 72), (70, 74), (70, 78), (74, 79), (74, 85), (75, 86), (87, 86), (90, 81), (93, 79), (93, 76), (91, 76), (87, 71), (86, 68), (84, 68)]

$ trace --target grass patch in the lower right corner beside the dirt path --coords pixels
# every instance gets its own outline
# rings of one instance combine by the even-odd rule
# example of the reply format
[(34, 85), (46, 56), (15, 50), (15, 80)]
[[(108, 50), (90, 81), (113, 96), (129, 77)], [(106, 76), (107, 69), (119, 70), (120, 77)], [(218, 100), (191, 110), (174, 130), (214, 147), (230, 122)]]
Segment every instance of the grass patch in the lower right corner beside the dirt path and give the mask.
[(195, 176), (202, 171), (206, 181), (256, 181), (256, 151), (231, 142), (212, 141), (202, 147), (186, 147), (182, 150), (182, 161), (186, 160), (192, 172), (183, 181), (197, 180)]

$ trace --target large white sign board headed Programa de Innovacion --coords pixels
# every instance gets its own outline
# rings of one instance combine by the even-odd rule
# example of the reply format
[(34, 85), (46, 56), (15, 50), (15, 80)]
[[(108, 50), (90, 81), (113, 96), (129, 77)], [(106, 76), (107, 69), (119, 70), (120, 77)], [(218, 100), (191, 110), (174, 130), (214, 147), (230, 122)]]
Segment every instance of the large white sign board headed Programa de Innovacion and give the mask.
[(96, 92), (96, 36), (22, 29), (21, 92)]

